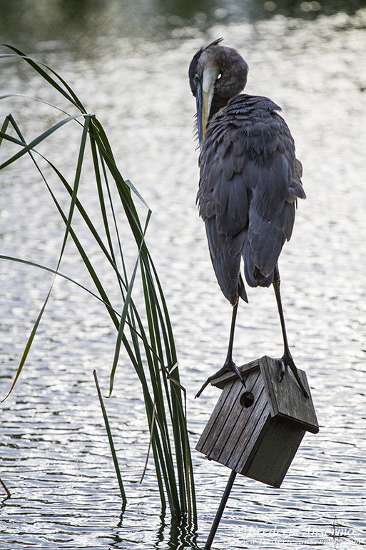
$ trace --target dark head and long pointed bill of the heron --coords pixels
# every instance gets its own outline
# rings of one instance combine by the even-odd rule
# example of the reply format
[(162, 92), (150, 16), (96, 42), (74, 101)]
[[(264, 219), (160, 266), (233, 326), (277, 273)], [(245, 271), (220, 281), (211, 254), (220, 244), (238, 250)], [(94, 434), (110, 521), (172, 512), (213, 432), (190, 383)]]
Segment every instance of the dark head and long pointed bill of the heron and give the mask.
[(222, 40), (201, 48), (190, 61), (189, 84), (197, 104), (200, 146), (210, 116), (240, 94), (247, 82), (248, 64), (238, 51), (221, 46)]

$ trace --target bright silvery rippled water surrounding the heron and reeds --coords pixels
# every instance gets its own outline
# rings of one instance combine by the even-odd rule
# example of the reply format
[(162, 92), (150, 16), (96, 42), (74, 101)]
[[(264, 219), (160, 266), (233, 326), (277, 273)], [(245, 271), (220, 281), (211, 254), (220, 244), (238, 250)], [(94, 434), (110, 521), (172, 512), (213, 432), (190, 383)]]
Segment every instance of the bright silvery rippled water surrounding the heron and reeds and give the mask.
[[(237, 476), (213, 548), (365, 546), (365, 9), (309, 21), (228, 21), (205, 33), (181, 26), (158, 43), (126, 36), (111, 43), (99, 36), (92, 56), (46, 46), (37, 56), (98, 115), (123, 175), (153, 209), (149, 246), (171, 310), (195, 446), (219, 391), (193, 396), (223, 363), (231, 311), (195, 209), (195, 101), (187, 68), (196, 49), (218, 36), (248, 61), (248, 93), (268, 95), (283, 107), (303, 162), (307, 200), (299, 205), (280, 271), (290, 344), (307, 371), (320, 433), (305, 435), (281, 489)], [(24, 66), (5, 63), (2, 75), (3, 90), (49, 99)], [(24, 105), (16, 102), (1, 101), (1, 119)], [(35, 133), (32, 119), (45, 125), (54, 120), (51, 109), (40, 106), (34, 114), (34, 106), (26, 105), (32, 109), (22, 122), (26, 136)], [(64, 150), (63, 138), (53, 153), (67, 172), (75, 158)], [(87, 174), (82, 186), (96, 211)], [(19, 164), (1, 174), (0, 189), (2, 254), (55, 267), (62, 227), (36, 172)], [(62, 267), (88, 280), (71, 246)], [(4, 396), (51, 279), (1, 261), (0, 281)], [(249, 298), (238, 313), (239, 363), (282, 353), (273, 292), (255, 289)], [(12, 495), (1, 508), (0, 548), (204, 546), (229, 471), (193, 451), (198, 531), (161, 517), (153, 464), (138, 484), (148, 431), (126, 360), (107, 402), (128, 497), (121, 513), (92, 376), (96, 369), (106, 393), (114, 338), (98, 303), (66, 281), (56, 282), (24, 373), (1, 404), (1, 478)]]

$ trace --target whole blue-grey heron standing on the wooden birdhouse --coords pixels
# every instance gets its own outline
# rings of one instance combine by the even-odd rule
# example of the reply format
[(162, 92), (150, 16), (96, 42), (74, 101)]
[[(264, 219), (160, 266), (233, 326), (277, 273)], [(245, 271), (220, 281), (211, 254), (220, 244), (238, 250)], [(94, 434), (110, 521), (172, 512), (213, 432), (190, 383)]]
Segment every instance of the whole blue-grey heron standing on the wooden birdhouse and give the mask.
[(189, 67), (197, 104), (200, 184), (197, 201), (205, 221), (218, 284), (233, 306), (228, 355), (223, 367), (203, 384), (232, 369), (239, 297), (248, 301), (240, 260), (249, 286), (273, 284), (283, 332), (283, 376), (287, 366), (305, 390), (290, 354), (280, 296), (278, 257), (290, 239), (297, 199), (305, 199), (302, 166), (280, 107), (267, 97), (240, 94), (248, 64), (218, 39), (200, 49)]

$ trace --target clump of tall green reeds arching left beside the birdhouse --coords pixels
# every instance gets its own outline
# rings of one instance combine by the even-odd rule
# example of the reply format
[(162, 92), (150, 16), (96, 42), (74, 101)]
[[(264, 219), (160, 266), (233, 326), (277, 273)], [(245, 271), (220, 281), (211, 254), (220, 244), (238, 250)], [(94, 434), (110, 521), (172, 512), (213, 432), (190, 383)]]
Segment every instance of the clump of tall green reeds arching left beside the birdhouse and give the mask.
[[(68, 101), (69, 108), (76, 111), (76, 114), (68, 114), (65, 109), (52, 106), (59, 112), (59, 121), (46, 131), (42, 131), (30, 142), (26, 141), (14, 116), (9, 115), (4, 119), (0, 129), (0, 145), (4, 146), (6, 143), (11, 142), (11, 144), (18, 146), (18, 150), (0, 165), (0, 169), (5, 169), (28, 154), (51, 195), (54, 206), (56, 206), (56, 210), (63, 220), (65, 231), (59, 261), (55, 270), (47, 266), (34, 264), (26, 259), (11, 258), (10, 256), (0, 256), (0, 258), (23, 261), (26, 264), (38, 266), (41, 269), (51, 271), (54, 274), (54, 280), (56, 276), (63, 276), (81, 286), (72, 277), (59, 272), (66, 241), (68, 239), (73, 241), (96, 288), (95, 291), (86, 290), (103, 302), (111, 322), (116, 328), (116, 346), (111, 366), (109, 393), (111, 394), (113, 391), (118, 359), (123, 350), (123, 356), (131, 361), (141, 382), (163, 509), (165, 509), (168, 501), (173, 516), (186, 517), (189, 521), (195, 521), (195, 489), (185, 409), (183, 407), (184, 389), (179, 379), (176, 346), (166, 299), (145, 240), (151, 210), (148, 209), (131, 181), (123, 179), (114, 159), (106, 131), (100, 121), (95, 115), (88, 114), (80, 99), (66, 81), (54, 70), (39, 61), (31, 59), (12, 46), (8, 47), (15, 54), (7, 54), (1, 57), (13, 57), (16, 61), (29, 64), (43, 79), (44, 85), (52, 86), (56, 92), (61, 94), (63, 100)], [(1, 96), (0, 100), (9, 99), (12, 96), (12, 94)], [(41, 100), (36, 99), (36, 101)], [(36, 149), (39, 144), (50, 139), (59, 129), (69, 124), (77, 124), (81, 132), (79, 149), (75, 154), (76, 169), (72, 182), (66, 179), (61, 169), (51, 159), (46, 158)], [(103, 220), (103, 233), (98, 231), (96, 222), (88, 215), (86, 208), (78, 198), (81, 172), (87, 151), (90, 151), (89, 158), (91, 158), (93, 164), (93, 178)], [(51, 169), (68, 196), (69, 206), (67, 211), (63, 209), (59, 199), (56, 198), (43, 166), (48, 166)], [(141, 220), (138, 215), (136, 201), (146, 209), (144, 220)], [(108, 294), (106, 286), (103, 285), (97, 274), (93, 258), (88, 255), (88, 251), (84, 248), (78, 236), (76, 226), (73, 224), (75, 211), (80, 214), (91, 236), (98, 244), (109, 269), (115, 276), (116, 286), (121, 294), (121, 300), (118, 300), (117, 305)], [(131, 276), (128, 276), (125, 261), (126, 254), (123, 254), (122, 246), (126, 234), (123, 234), (122, 239), (121, 229), (118, 225), (118, 219), (121, 219), (122, 215), (121, 211), (128, 221), (131, 238), (136, 244), (136, 261)], [(138, 274), (139, 277), (137, 277)], [(26, 362), (31, 344), (49, 301), (54, 280), (29, 336), (10, 391), (14, 388), (14, 384), (16, 384), (16, 380), (19, 378)], [(141, 280), (142, 284), (142, 305), (137, 305), (133, 299), (133, 291), (137, 280)], [(85, 289), (84, 286), (82, 288)], [(122, 309), (121, 301), (123, 304)]]

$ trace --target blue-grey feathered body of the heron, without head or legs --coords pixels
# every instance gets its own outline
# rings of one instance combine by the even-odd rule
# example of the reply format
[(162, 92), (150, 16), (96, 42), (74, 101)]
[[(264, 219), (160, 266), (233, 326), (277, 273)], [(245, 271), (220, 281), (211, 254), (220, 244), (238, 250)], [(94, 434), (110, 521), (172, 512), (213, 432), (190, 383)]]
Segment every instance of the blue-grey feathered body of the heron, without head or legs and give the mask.
[(208, 122), (200, 154), (197, 201), (210, 256), (225, 297), (247, 301), (250, 286), (269, 286), (297, 197), (305, 198), (295, 145), (280, 107), (240, 94)]

